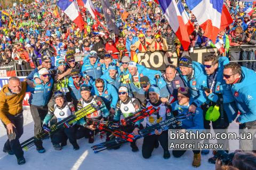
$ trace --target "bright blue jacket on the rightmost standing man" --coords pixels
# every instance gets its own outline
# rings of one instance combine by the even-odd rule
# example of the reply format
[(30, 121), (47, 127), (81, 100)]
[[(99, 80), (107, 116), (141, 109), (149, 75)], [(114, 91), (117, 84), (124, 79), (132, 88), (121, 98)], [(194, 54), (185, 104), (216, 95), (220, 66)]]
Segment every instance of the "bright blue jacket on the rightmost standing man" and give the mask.
[[(231, 86), (236, 106), (240, 111), (239, 123), (246, 123), (256, 120), (256, 73), (245, 67), (242, 68), (242, 80)], [(255, 98), (256, 99), (256, 98)]]

